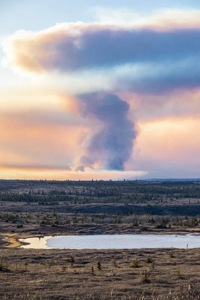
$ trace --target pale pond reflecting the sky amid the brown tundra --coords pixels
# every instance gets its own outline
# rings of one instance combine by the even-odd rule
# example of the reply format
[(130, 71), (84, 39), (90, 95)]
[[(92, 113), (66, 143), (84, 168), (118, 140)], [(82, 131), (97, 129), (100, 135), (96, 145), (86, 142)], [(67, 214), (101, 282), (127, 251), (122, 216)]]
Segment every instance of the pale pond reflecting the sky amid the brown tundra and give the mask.
[(200, 235), (174, 234), (96, 234), (44, 236), (19, 239), (28, 242), (20, 247), (33, 249), (141, 249), (141, 248), (198, 248)]

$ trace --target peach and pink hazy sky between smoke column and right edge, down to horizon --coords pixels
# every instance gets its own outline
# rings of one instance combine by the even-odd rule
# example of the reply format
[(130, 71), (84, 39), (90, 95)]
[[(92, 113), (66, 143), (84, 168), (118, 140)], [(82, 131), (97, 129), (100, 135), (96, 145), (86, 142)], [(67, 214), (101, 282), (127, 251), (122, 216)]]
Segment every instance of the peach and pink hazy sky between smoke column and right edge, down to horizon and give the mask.
[(148, 178), (200, 176), (198, 118), (153, 120), (140, 122), (139, 127), (126, 169), (148, 170)]

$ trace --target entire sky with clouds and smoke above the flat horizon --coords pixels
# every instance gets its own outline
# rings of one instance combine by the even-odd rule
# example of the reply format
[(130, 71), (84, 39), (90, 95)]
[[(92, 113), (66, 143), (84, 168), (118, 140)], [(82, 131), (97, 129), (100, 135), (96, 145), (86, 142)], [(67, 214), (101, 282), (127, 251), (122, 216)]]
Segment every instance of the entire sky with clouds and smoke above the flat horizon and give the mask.
[(200, 177), (199, 0), (0, 0), (0, 178)]

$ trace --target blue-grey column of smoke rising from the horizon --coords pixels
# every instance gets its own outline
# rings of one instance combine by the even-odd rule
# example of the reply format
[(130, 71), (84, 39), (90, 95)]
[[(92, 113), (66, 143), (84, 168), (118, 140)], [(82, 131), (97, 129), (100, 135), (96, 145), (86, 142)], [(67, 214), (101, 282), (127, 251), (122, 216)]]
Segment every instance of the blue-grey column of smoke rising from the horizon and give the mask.
[(85, 167), (124, 170), (132, 153), (136, 136), (134, 123), (128, 119), (129, 104), (115, 94), (91, 93), (78, 96), (82, 116), (100, 121), (101, 125), (84, 141), (84, 155), (79, 157), (75, 170)]

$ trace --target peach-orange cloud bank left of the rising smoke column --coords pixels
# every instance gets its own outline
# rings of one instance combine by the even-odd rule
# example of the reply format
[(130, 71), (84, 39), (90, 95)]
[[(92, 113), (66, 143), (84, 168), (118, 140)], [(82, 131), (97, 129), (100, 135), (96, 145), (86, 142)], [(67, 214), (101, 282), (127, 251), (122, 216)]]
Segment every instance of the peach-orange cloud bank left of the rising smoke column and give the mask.
[(0, 117), (0, 165), (69, 168), (79, 155), (77, 145), (87, 128), (31, 117), (30, 111)]

